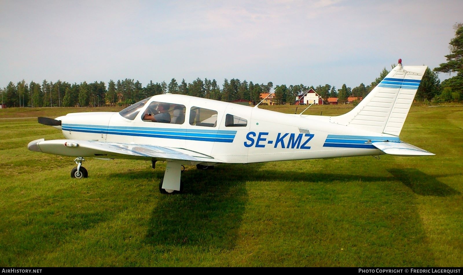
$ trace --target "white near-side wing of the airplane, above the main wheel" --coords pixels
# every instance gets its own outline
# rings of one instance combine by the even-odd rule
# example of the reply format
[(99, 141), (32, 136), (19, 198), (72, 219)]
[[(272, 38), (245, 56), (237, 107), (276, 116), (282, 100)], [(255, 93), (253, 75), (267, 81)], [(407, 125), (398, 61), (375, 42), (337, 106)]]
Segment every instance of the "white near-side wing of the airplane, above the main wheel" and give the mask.
[(27, 148), (31, 151), (59, 156), (138, 160), (153, 160), (154, 158), (159, 161), (221, 162), (211, 156), (190, 150), (147, 144), (106, 143), (75, 139), (45, 140), (41, 138), (31, 141), (27, 145)]

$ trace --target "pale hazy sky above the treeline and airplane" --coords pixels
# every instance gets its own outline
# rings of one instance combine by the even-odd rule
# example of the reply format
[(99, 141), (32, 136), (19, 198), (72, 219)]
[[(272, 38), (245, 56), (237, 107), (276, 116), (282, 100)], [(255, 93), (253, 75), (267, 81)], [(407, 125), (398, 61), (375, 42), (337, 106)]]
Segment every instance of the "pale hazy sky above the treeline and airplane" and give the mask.
[(461, 0), (0, 0), (0, 87), (235, 78), (354, 88), (399, 58), (445, 63), (462, 11)]

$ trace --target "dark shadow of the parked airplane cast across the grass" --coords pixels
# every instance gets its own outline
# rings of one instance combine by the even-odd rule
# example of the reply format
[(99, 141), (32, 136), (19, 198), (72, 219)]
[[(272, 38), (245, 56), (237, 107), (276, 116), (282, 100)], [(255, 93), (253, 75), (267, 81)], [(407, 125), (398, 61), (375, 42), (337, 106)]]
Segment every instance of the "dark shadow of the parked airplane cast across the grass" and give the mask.
[[(233, 249), (248, 201), (246, 181), (328, 184), (359, 179), (362, 182), (398, 180), (416, 194), (459, 194), (418, 169), (388, 169), (394, 176), (391, 177), (275, 171), (262, 169), (263, 165), (223, 164), (214, 170), (188, 169), (182, 176), (187, 181), (183, 190), (185, 194), (160, 197), (153, 209), (145, 242), (151, 245), (196, 245), (206, 250)], [(162, 177), (162, 171), (156, 176)]]

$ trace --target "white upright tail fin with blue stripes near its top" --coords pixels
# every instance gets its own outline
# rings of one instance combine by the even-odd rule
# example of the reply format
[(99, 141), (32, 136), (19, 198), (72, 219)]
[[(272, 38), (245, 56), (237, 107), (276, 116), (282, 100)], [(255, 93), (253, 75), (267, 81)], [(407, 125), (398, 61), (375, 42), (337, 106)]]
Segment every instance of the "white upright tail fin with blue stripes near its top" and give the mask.
[(399, 64), (349, 113), (332, 123), (399, 136), (427, 66)]

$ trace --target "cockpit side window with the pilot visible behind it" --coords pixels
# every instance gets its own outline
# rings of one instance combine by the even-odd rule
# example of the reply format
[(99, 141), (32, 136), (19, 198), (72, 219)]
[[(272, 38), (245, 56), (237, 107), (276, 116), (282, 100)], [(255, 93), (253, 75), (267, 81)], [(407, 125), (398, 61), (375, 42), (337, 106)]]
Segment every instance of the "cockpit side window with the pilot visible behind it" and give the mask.
[(145, 109), (142, 119), (150, 122), (183, 124), (186, 109), (181, 104), (153, 101)]

